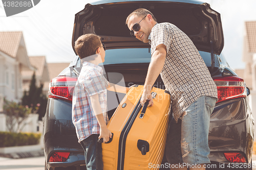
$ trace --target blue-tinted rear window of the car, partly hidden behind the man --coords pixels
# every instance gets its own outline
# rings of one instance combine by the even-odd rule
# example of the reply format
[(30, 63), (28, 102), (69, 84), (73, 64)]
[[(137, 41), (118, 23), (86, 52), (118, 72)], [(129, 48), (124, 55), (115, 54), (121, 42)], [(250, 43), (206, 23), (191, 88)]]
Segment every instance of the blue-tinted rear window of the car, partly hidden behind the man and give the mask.
[[(211, 66), (210, 53), (199, 51), (205, 64)], [(106, 50), (105, 62), (103, 65), (108, 64), (122, 64), (122, 63), (150, 63), (151, 61), (151, 48), (121, 48)], [(215, 55), (215, 67), (219, 67), (219, 60)]]

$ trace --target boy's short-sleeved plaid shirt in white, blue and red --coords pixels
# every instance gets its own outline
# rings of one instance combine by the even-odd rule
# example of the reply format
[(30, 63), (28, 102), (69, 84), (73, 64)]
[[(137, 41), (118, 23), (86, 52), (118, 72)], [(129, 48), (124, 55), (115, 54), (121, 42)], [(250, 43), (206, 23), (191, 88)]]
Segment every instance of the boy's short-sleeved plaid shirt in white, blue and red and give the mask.
[(104, 78), (103, 69), (90, 62), (83, 62), (77, 79), (72, 101), (72, 122), (76, 128), (78, 142), (92, 134), (99, 134), (100, 127), (92, 109), (90, 96), (99, 94), (100, 107), (106, 121), (106, 88), (109, 82)]

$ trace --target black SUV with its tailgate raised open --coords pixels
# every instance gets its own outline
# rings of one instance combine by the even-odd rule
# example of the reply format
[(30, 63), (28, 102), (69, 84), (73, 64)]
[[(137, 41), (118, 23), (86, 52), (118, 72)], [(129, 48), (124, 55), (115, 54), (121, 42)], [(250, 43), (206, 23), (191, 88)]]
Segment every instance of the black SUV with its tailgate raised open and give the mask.
[[(75, 15), (73, 49), (79, 36), (97, 34), (108, 49), (103, 63), (106, 78), (127, 87), (143, 84), (151, 60), (151, 46), (131, 37), (125, 25), (126, 17), (138, 8), (145, 8), (159, 23), (176, 25), (194, 42), (218, 88), (219, 101), (210, 119), (211, 164), (207, 169), (220, 166), (221, 169), (223, 166), (252, 169), (249, 163), (252, 160), (254, 119), (248, 105), (248, 89), (221, 55), (224, 36), (220, 14), (209, 4), (187, 2), (105, 0), (87, 4)], [(44, 119), (45, 169), (86, 169), (84, 151), (78, 143), (71, 118), (72, 92), (80, 68), (80, 59), (75, 56), (69, 67), (50, 83)], [(154, 86), (165, 89), (160, 77)], [(112, 99), (117, 96), (116, 100), (108, 100), (110, 118), (124, 95), (108, 92), (109, 96)]]

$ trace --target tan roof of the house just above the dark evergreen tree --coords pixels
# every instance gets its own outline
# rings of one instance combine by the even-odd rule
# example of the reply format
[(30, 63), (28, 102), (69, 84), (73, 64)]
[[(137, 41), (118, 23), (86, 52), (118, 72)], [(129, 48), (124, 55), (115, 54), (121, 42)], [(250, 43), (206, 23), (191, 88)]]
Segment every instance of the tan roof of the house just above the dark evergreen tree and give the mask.
[[(35, 57), (29, 57), (30, 64), (36, 68), (35, 76), (42, 77), (42, 74), (44, 72), (44, 67), (46, 64), (46, 57), (45, 56), (35, 56)], [(24, 70), (22, 71), (23, 77), (32, 77), (33, 75), (32, 70)]]

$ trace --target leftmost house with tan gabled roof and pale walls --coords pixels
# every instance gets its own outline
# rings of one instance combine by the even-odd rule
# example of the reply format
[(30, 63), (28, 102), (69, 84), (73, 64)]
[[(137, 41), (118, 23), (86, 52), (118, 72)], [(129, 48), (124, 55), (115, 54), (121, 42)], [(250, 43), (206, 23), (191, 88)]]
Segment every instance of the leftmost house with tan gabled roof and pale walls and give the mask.
[(35, 71), (22, 32), (0, 32), (0, 111), (4, 97), (19, 102), (23, 96), (21, 72)]

